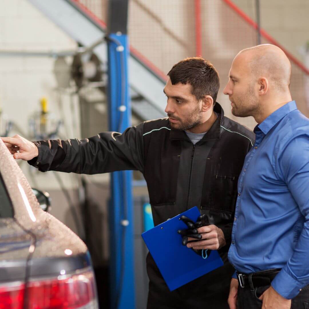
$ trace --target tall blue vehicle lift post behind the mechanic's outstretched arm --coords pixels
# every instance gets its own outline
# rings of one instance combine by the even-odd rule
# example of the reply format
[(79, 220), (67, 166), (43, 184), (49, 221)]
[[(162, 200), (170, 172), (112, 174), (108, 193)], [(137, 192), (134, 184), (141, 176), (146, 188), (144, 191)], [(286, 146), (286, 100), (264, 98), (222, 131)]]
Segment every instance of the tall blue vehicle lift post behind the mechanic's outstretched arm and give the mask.
[[(128, 83), (128, 0), (108, 0), (109, 130), (123, 133), (131, 125)], [(134, 309), (132, 171), (111, 174), (109, 205), (110, 308)]]

